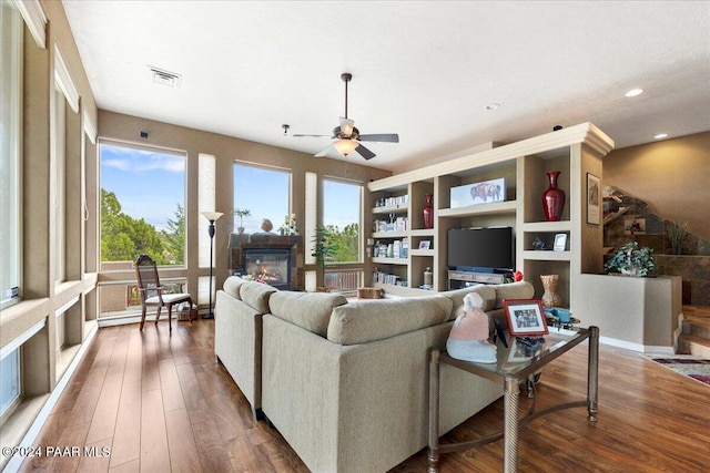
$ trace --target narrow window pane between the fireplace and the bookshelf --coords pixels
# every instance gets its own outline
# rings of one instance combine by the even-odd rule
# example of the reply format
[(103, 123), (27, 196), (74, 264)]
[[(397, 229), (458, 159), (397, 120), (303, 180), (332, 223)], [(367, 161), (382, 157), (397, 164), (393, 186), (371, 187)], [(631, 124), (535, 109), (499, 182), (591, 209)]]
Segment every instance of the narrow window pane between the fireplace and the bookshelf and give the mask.
[(359, 216), (363, 186), (335, 181), (323, 182), (323, 225), (337, 246), (332, 263), (361, 261)]

